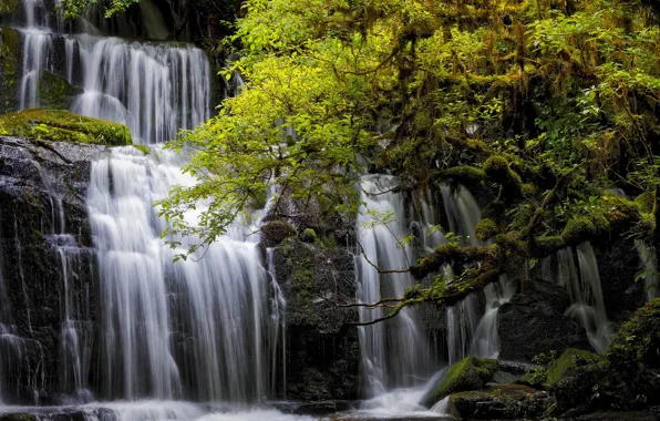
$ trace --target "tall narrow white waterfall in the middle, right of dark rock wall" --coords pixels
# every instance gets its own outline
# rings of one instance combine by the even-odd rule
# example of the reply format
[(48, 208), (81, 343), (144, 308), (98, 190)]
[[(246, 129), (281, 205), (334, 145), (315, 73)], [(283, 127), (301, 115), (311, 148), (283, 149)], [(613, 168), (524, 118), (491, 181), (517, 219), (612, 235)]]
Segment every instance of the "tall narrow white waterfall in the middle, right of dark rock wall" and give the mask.
[[(380, 274), (406, 269), (411, 265), (411, 247), (402, 243), (405, 228), (403, 196), (392, 193), (398, 179), (388, 175), (365, 176), (361, 184), (363, 205), (358, 213), (360, 245), (355, 257), (358, 302), (371, 304), (382, 298), (402, 297), (412, 286), (408, 273)], [(382, 308), (359, 309), (360, 321), (384, 317)], [(368, 394), (384, 393), (393, 387), (412, 386), (427, 373), (429, 347), (420, 331), (415, 309), (404, 309), (396, 318), (359, 328), (362, 367)]]

